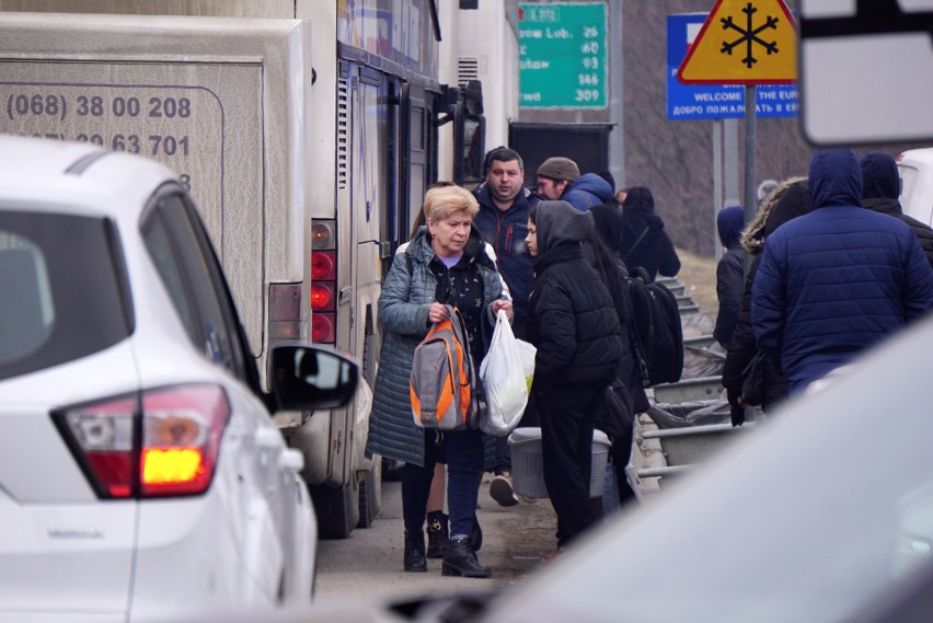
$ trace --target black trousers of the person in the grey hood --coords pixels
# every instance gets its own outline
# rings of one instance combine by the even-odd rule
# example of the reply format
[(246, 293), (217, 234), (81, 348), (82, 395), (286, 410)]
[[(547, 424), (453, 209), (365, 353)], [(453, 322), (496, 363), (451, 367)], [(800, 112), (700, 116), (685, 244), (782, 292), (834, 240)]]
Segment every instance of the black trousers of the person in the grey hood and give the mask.
[(560, 388), (535, 392), (541, 419), (544, 484), (557, 514), (557, 546), (565, 547), (599, 521), (599, 500), (589, 497), (592, 430), (606, 388)]

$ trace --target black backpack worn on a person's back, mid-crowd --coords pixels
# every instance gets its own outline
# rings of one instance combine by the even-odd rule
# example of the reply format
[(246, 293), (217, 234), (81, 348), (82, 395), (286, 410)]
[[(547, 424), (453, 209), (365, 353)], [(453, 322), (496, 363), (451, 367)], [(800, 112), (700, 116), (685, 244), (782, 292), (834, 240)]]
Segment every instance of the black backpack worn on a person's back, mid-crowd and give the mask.
[(649, 388), (676, 383), (683, 372), (683, 328), (677, 297), (663, 284), (653, 282), (647, 270), (635, 268), (629, 276), (632, 346)]

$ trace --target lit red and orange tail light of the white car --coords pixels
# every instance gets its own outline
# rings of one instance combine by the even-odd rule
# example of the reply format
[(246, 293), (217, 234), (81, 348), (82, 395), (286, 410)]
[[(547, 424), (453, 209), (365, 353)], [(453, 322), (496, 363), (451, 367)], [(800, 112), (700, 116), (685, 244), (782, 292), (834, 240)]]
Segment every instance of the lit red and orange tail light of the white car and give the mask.
[(53, 417), (99, 497), (196, 495), (214, 478), (230, 404), (217, 385), (177, 385)]

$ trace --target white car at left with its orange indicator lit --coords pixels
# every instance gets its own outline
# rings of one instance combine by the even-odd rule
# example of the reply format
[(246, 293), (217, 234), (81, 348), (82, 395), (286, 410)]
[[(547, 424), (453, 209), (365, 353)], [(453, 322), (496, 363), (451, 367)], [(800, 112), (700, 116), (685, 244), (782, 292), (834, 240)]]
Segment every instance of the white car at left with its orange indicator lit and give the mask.
[(0, 621), (310, 604), (314, 512), (269, 413), (345, 404), (358, 367), (268, 359), (265, 393), (174, 173), (0, 137)]

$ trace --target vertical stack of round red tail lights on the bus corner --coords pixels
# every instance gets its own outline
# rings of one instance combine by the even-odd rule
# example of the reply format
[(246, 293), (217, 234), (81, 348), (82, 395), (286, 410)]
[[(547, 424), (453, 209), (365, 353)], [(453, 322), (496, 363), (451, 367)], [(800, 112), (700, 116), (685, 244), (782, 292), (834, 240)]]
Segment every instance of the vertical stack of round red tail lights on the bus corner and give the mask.
[(336, 341), (337, 252), (336, 223), (315, 220), (311, 224), (309, 290), (311, 304), (311, 341), (334, 344)]

